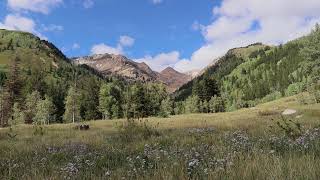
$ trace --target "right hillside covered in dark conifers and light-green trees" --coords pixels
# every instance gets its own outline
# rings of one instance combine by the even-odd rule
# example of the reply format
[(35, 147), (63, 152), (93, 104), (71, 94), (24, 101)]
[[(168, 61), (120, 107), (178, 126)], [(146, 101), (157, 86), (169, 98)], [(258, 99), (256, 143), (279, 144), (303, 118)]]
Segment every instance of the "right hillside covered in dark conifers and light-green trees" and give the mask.
[[(230, 50), (174, 96), (176, 101), (197, 96), (199, 103), (207, 103), (209, 92), (209, 99), (216, 95), (227, 110), (233, 110), (312, 89), (319, 84), (319, 74), (320, 28), (317, 25), (309, 35), (285, 45), (271, 47), (258, 43)], [(208, 79), (216, 81), (218, 91), (206, 91)]]

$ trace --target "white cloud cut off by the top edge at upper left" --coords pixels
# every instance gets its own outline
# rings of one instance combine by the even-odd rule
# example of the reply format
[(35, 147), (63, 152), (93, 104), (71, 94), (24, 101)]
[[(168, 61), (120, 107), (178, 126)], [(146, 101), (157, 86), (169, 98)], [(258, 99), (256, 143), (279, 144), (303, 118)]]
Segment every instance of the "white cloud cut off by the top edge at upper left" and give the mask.
[(53, 7), (63, 3), (63, 0), (8, 0), (8, 7), (15, 11), (32, 11), (49, 14)]

